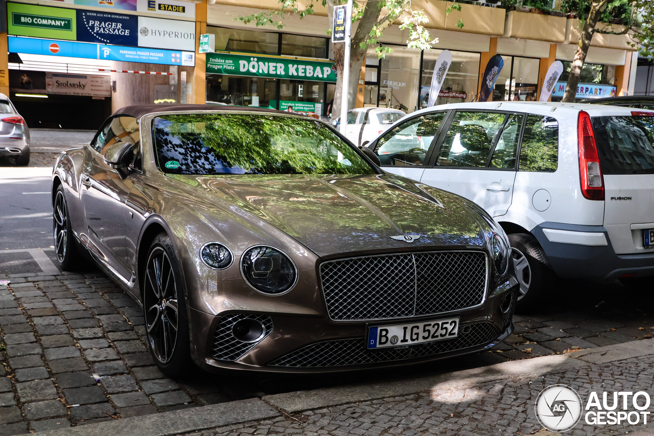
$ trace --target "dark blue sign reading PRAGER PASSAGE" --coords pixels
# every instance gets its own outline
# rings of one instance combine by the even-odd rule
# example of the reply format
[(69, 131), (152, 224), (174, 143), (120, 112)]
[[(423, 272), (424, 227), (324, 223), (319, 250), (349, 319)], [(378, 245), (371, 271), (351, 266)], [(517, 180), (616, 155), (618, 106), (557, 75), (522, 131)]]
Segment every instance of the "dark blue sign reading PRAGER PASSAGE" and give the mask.
[(138, 25), (137, 16), (78, 9), (77, 41), (135, 46)]

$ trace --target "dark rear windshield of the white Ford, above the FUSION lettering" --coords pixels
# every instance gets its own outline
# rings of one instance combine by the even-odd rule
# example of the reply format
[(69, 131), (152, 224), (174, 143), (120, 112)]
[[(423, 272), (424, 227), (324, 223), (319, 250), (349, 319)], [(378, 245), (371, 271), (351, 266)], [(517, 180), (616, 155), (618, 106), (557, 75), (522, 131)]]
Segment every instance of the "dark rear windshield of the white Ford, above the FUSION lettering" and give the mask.
[(592, 120), (602, 173), (654, 174), (653, 116), (597, 116)]

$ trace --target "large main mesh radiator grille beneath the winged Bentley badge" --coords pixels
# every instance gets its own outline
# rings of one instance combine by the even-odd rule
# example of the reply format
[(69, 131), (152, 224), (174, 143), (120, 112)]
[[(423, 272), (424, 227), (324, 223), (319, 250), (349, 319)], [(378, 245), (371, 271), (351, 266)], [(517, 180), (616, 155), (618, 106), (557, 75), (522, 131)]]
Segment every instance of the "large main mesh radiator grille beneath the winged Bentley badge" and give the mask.
[(389, 254), (327, 261), (320, 280), (332, 320), (377, 320), (466, 309), (483, 303), (486, 254)]

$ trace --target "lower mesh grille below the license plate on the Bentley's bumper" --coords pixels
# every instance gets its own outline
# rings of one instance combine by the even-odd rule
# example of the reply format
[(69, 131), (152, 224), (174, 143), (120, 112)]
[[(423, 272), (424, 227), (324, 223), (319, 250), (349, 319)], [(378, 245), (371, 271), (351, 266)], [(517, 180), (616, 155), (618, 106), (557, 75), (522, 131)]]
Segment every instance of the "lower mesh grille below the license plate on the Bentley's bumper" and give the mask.
[(388, 350), (367, 351), (364, 338), (319, 342), (290, 352), (268, 363), (268, 365), (313, 368), (406, 360), (489, 343), (500, 334), (490, 322), (469, 325), (471, 327), (470, 331), (468, 333), (459, 333), (456, 339), (416, 345), (404, 350), (391, 348)]

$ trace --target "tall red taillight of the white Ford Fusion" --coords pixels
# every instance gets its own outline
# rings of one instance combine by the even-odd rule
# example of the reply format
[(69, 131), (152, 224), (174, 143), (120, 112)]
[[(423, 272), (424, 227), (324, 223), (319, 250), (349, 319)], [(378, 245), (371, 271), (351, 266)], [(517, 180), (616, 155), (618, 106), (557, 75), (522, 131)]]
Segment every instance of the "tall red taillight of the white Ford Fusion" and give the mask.
[(604, 178), (593, 135), (591, 117), (579, 112), (579, 176), (581, 193), (589, 200), (604, 200)]

